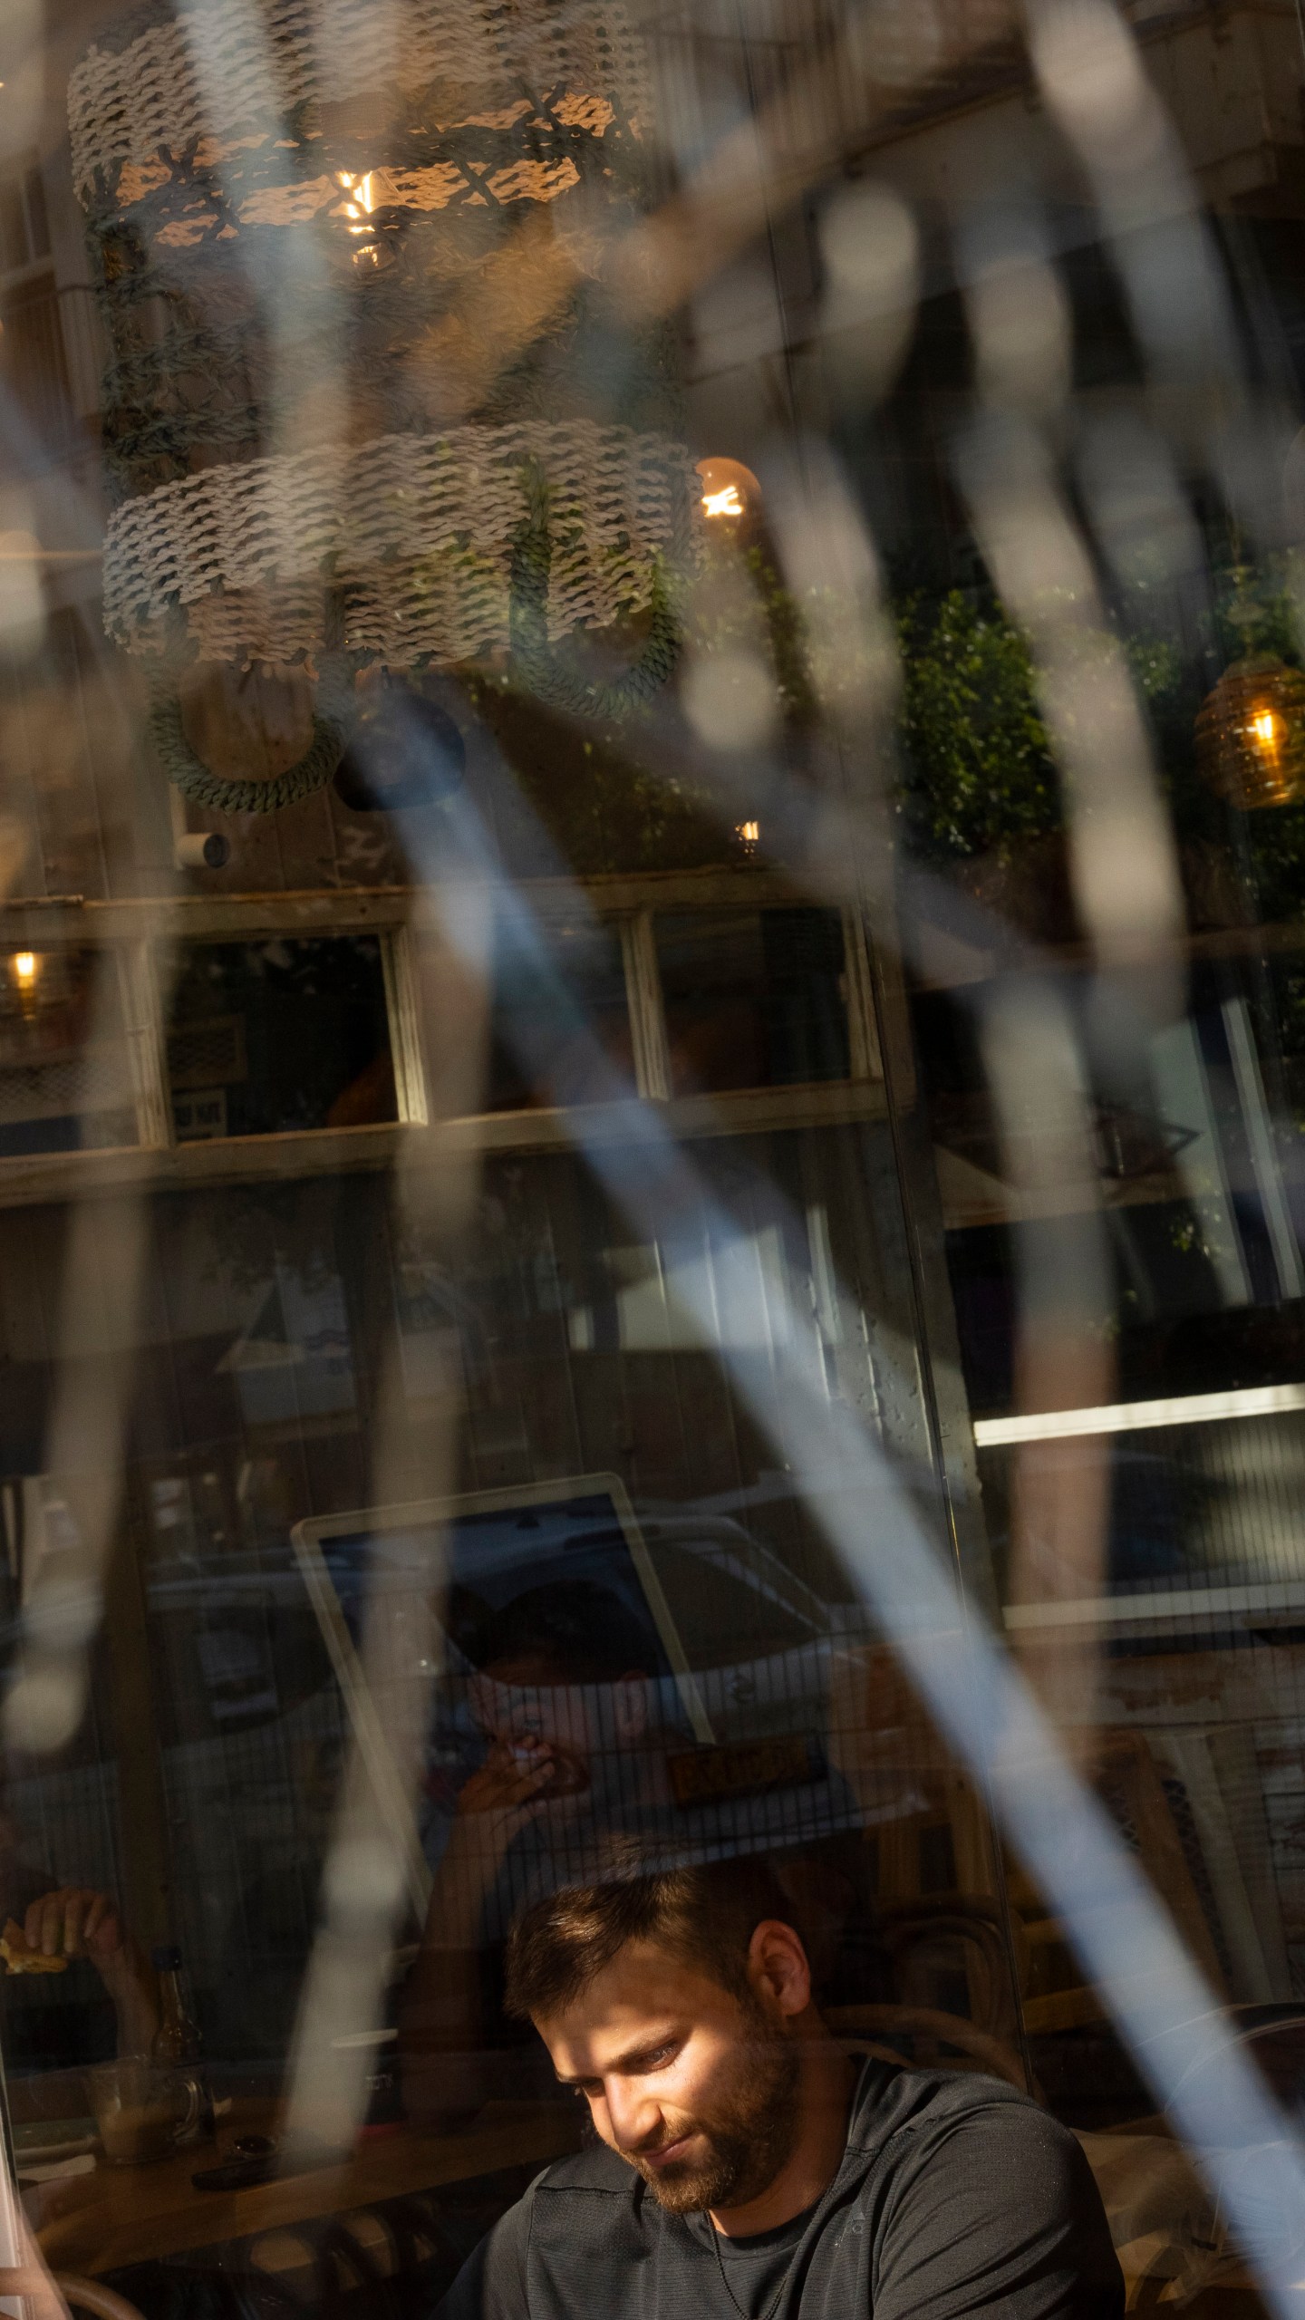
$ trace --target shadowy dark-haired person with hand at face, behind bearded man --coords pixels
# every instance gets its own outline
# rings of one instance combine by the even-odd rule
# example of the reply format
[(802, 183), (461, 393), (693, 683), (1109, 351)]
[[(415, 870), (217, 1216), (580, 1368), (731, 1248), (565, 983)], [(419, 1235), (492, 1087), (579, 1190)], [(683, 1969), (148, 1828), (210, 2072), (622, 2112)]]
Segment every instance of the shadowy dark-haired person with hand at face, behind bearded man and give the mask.
[(471, 1712), (488, 1740), (457, 1791), (399, 2021), (404, 2104), (448, 2123), (495, 2093), (495, 2049), (520, 2093), (522, 2032), (502, 2011), (513, 1902), (576, 1875), (604, 1835), (664, 1800), (650, 1745), (643, 1624), (592, 1580), (532, 1587), (474, 1636)]

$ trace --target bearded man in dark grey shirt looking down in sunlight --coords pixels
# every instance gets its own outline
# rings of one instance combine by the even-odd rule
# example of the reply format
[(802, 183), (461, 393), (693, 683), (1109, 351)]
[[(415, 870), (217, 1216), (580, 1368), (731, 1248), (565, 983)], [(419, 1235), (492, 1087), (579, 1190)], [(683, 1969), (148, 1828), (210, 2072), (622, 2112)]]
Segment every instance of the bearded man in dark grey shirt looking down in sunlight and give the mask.
[(615, 1877), (513, 1928), (597, 2141), (495, 2225), (437, 2320), (1119, 2320), (1073, 2134), (992, 2079), (855, 2060), (764, 1865)]

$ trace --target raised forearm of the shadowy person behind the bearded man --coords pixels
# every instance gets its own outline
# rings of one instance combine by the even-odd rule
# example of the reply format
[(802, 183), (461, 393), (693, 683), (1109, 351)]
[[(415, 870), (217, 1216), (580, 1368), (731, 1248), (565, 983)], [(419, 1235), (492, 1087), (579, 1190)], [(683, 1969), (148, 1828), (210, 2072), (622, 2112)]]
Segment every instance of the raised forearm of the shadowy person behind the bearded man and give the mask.
[(553, 1770), (546, 1742), (522, 1742), (518, 1756), (497, 1740), (460, 1789), (399, 2011), (404, 2109), (413, 2125), (450, 2125), (485, 2100), (474, 2067), (474, 2056), (490, 2044), (483, 2002), (485, 1902), (511, 1840), (532, 1819)]

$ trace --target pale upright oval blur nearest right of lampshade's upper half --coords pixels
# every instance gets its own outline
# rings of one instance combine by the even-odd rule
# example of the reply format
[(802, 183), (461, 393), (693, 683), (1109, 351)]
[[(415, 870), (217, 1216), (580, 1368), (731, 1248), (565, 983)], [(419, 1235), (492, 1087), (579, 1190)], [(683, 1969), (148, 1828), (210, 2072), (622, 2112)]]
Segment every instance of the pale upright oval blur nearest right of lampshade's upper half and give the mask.
[(824, 360), (861, 394), (892, 387), (915, 327), (920, 227), (892, 186), (845, 186), (820, 218)]

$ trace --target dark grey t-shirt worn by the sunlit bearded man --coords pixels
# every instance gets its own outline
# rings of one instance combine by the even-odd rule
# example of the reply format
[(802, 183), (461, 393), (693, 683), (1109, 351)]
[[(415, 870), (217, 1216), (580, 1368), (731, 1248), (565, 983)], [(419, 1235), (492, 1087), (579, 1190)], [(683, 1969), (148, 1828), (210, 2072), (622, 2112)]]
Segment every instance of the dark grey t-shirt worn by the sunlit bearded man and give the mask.
[[(720, 2262), (718, 2262), (720, 2257)], [(778, 2232), (713, 2246), (604, 2146), (548, 2167), (434, 2320), (1122, 2320), (1068, 2127), (994, 2079), (868, 2060), (843, 2165)]]

